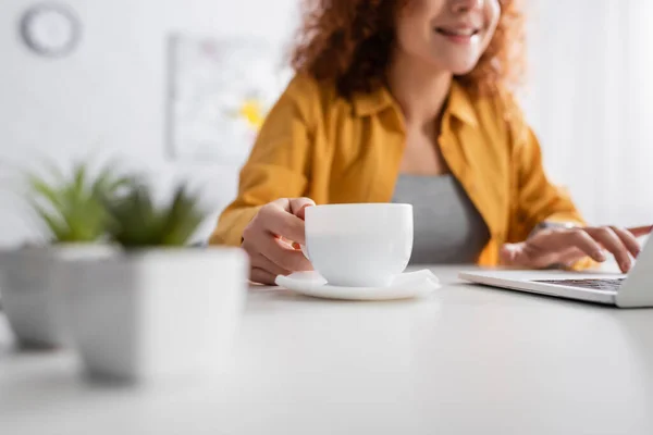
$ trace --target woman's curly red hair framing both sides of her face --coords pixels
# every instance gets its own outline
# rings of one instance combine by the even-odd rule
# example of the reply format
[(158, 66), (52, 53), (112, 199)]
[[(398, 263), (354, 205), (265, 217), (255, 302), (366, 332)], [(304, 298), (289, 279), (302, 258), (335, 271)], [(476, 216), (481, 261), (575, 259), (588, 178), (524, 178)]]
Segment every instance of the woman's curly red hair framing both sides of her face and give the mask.
[[(305, 0), (292, 66), (332, 80), (349, 96), (383, 84), (394, 41), (394, 17), (410, 0)], [(496, 94), (521, 84), (523, 14), (519, 0), (498, 0), (501, 18), (477, 66), (457, 77), (468, 89)]]

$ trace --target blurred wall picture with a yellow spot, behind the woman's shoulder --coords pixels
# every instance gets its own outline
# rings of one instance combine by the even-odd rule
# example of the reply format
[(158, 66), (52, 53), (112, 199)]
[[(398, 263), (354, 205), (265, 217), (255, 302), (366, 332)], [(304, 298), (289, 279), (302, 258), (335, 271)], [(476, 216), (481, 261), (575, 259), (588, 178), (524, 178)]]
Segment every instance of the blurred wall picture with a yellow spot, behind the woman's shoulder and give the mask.
[(175, 160), (239, 165), (292, 77), (281, 45), (247, 37), (169, 38), (168, 147)]

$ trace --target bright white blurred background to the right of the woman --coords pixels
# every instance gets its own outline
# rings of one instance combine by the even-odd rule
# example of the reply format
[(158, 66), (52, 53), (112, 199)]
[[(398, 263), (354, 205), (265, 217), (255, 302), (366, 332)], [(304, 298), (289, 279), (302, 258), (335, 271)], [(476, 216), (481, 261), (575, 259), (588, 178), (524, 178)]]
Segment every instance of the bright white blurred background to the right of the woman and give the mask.
[(653, 223), (651, 0), (531, 0), (526, 109), (589, 221)]

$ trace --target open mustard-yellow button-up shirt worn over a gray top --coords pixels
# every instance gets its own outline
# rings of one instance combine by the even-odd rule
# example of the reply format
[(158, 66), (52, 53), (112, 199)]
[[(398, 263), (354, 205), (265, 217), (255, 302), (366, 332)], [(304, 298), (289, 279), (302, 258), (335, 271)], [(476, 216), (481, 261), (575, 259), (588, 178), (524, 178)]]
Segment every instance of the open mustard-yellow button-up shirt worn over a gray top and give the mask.
[[(540, 146), (514, 101), (473, 97), (454, 80), (440, 147), (490, 231), (479, 264), (543, 221), (582, 219), (546, 178)], [(405, 146), (402, 112), (385, 88), (350, 99), (297, 75), (270, 111), (241, 172), (237, 198), (210, 243), (239, 246), (261, 206), (309, 197), (318, 204), (392, 200)]]

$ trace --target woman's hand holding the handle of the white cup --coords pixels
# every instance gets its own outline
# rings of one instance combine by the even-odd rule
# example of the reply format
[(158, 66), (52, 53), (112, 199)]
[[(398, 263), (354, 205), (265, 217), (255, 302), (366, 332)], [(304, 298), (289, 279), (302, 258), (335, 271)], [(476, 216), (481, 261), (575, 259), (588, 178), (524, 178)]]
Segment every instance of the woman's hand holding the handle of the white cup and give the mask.
[(305, 244), (304, 209), (315, 204), (308, 198), (284, 198), (261, 208), (243, 232), (250, 281), (272, 285), (278, 275), (312, 269), (293, 244)]

